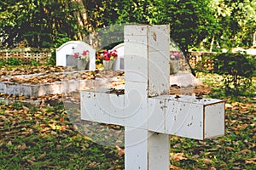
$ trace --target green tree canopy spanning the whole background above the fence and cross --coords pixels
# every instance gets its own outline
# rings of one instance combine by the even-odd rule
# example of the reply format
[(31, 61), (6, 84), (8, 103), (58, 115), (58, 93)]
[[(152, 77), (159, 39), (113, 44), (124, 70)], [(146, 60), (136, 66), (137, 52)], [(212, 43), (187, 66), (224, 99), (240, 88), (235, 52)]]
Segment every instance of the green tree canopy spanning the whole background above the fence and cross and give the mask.
[(252, 46), (256, 0), (2, 0), (1, 48), (50, 48), (62, 38), (82, 40), (119, 23), (168, 24), (171, 37), (189, 48)]

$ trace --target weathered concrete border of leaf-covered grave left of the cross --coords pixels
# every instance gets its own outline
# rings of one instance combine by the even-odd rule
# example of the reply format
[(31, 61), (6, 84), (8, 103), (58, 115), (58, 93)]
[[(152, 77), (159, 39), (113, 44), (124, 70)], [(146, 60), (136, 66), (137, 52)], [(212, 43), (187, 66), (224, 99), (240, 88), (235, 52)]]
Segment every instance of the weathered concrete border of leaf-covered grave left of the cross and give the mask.
[[(65, 71), (65, 73), (77, 73), (83, 71)], [(63, 72), (61, 72), (63, 73)], [(56, 72), (55, 74), (60, 74)], [(15, 77), (32, 77), (44, 74), (31, 74), (31, 75), (21, 75)], [(117, 77), (106, 77), (96, 79), (84, 79), (84, 80), (69, 80), (62, 82), (48, 82), (48, 83), (19, 83), (19, 82), (9, 82), (9, 79), (13, 77), (3, 77), (7, 79), (5, 82), (0, 82), (0, 93), (2, 94), (14, 94), (23, 95), (27, 97), (39, 97), (47, 94), (68, 94), (71, 92), (76, 92), (81, 89), (86, 88), (103, 88), (110, 87), (110, 82), (118, 81)]]

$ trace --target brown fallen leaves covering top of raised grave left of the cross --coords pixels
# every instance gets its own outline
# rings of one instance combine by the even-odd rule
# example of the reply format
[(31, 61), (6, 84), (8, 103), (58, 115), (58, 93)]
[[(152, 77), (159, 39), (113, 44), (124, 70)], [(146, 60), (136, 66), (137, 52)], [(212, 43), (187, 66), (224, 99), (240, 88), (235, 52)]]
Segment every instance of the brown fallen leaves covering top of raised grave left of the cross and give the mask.
[(0, 68), (0, 82), (42, 84), (122, 76), (124, 71), (75, 71), (64, 66), (3, 66)]

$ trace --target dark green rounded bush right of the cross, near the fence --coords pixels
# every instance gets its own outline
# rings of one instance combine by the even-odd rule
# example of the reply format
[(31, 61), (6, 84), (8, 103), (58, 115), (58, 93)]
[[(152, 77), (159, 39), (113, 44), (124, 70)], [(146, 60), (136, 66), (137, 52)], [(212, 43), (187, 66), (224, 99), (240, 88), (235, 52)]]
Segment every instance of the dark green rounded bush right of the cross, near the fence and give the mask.
[(224, 76), (227, 93), (239, 94), (252, 85), (255, 60), (248, 59), (245, 54), (218, 54), (213, 71)]

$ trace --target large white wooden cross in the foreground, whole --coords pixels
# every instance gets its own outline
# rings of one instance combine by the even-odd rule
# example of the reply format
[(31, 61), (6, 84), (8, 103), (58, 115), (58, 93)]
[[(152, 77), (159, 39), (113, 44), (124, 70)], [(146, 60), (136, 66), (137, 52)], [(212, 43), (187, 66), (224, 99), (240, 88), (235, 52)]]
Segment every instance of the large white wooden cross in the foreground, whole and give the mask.
[(125, 126), (125, 169), (169, 169), (169, 134), (224, 135), (224, 101), (169, 95), (169, 26), (125, 26), (125, 93), (81, 92), (81, 118)]

